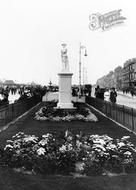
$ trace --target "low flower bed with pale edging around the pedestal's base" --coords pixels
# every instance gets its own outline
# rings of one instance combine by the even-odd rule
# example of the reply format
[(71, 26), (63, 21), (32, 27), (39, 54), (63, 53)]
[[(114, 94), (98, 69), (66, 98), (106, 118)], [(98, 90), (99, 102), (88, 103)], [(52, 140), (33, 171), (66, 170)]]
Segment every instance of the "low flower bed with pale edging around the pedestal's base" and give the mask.
[(65, 110), (65, 109), (54, 109), (53, 104), (49, 104), (43, 108), (40, 108), (35, 113), (35, 119), (39, 121), (97, 121), (97, 117), (91, 113), (86, 107), (80, 107), (76, 104), (77, 109)]

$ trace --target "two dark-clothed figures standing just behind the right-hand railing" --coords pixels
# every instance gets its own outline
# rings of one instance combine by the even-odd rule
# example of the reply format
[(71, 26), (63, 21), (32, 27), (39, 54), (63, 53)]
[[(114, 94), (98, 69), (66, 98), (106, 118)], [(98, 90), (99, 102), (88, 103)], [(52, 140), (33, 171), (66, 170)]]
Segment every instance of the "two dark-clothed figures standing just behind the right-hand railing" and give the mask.
[[(106, 90), (104, 88), (100, 88), (98, 85), (95, 88), (95, 97), (104, 100), (104, 93), (105, 92), (106, 92)], [(116, 103), (116, 101), (117, 101), (117, 92), (116, 92), (114, 87), (110, 89), (109, 100), (112, 103)]]

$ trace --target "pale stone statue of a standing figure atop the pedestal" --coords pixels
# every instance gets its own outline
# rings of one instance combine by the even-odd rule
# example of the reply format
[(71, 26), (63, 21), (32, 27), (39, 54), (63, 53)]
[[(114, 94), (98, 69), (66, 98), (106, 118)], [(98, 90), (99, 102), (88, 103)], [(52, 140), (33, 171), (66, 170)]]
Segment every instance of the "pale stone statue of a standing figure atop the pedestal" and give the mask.
[(62, 44), (63, 49), (61, 50), (61, 59), (62, 59), (62, 71), (69, 71), (69, 61), (67, 55), (67, 44)]

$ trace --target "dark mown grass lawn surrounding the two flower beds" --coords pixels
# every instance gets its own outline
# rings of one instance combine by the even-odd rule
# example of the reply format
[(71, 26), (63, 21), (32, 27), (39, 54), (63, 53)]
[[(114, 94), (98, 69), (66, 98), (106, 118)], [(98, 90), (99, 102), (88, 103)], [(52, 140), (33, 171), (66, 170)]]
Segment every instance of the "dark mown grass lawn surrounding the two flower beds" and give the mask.
[[(47, 132), (70, 130), (73, 133), (82, 131), (86, 134), (107, 134), (113, 138), (121, 138), (124, 135), (131, 136), (131, 141), (136, 145), (136, 137), (127, 130), (119, 127), (109, 119), (92, 112), (98, 117), (98, 122), (50, 122), (36, 121), (33, 110), (24, 120), (11, 125), (6, 131), (0, 133), (0, 146), (4, 147), (6, 140), (22, 131), (26, 134), (41, 136)], [(86, 178), (74, 178), (71, 176), (45, 176), (16, 173), (11, 169), (0, 167), (0, 190), (133, 190), (136, 189), (136, 174), (124, 176), (94, 176)]]

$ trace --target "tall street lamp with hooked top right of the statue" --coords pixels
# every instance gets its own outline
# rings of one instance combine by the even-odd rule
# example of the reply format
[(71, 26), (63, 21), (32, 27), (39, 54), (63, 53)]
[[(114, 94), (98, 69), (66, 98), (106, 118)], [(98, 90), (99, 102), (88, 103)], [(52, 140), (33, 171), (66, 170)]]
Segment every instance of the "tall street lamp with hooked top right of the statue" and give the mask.
[(87, 56), (87, 49), (85, 46), (81, 45), (79, 46), (79, 98), (81, 97), (81, 50), (84, 49), (84, 56)]

